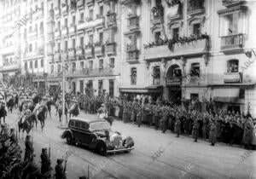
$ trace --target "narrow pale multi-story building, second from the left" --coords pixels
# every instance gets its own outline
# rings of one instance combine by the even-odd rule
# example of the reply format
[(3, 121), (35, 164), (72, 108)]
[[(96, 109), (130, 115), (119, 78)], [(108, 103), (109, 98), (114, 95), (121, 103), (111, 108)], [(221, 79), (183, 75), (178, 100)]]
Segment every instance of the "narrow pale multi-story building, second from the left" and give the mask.
[(27, 82), (40, 90), (46, 89), (46, 10), (43, 0), (25, 0), (21, 2), (21, 16), (25, 19), (20, 26), (21, 72), (30, 77)]

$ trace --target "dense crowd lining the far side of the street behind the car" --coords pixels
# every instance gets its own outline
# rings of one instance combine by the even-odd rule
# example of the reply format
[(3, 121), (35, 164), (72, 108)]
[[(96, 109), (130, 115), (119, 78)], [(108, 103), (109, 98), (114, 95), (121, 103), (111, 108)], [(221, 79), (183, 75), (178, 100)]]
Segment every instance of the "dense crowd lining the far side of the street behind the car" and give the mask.
[[(68, 94), (67, 98), (77, 98), (79, 107), (84, 113), (97, 113), (104, 103), (111, 116), (122, 119), (124, 123), (154, 126), (155, 130), (170, 130), (178, 136), (192, 136), (194, 141), (200, 137), (227, 145), (240, 145), (247, 149), (256, 146), (256, 118), (250, 113), (223, 111), (207, 102), (205, 110), (201, 110), (199, 101), (189, 101), (188, 105), (178, 105), (158, 98), (153, 101), (150, 96), (128, 101), (125, 97), (110, 98), (108, 95), (88, 96)], [(67, 100), (68, 101), (68, 100)]]

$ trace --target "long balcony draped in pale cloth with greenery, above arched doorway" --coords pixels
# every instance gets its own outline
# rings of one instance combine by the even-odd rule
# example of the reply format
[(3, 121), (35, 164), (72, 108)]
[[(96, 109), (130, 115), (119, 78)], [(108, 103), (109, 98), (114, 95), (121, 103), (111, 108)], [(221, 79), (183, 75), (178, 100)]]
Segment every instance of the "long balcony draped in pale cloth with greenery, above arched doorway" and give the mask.
[[(157, 52), (157, 53), (156, 53)], [(152, 48), (144, 49), (145, 59), (154, 60), (160, 58), (169, 58), (175, 56), (189, 56), (189, 55), (203, 55), (208, 53), (208, 39), (193, 41), (190, 43), (175, 43), (172, 50), (168, 48), (167, 44), (154, 46)]]

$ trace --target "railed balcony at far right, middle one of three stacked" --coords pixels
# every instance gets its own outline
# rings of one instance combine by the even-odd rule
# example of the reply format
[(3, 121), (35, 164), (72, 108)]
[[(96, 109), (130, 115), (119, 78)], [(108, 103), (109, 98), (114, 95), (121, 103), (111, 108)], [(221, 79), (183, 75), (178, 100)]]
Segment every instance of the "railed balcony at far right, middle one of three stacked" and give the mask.
[(241, 51), (243, 47), (243, 34), (236, 34), (230, 36), (224, 36), (221, 38), (221, 50), (222, 51)]

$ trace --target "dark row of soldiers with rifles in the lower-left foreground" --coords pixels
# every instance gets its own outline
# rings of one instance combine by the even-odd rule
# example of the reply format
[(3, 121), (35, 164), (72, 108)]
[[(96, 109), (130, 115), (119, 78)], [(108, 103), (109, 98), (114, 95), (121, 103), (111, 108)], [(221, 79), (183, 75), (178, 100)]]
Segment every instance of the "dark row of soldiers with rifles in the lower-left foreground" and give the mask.
[[(7, 128), (7, 124), (1, 124), (0, 131), (0, 178), (3, 179), (46, 179), (51, 178), (52, 167), (50, 160), (50, 147), (42, 148), (40, 155), (41, 167), (35, 162), (35, 153), (30, 135), (26, 136), (25, 156), (21, 159), (22, 150), (18, 144), (17, 133), (15, 129)], [(55, 165), (55, 179), (66, 179), (66, 165), (63, 166), (64, 159), (57, 159)]]

